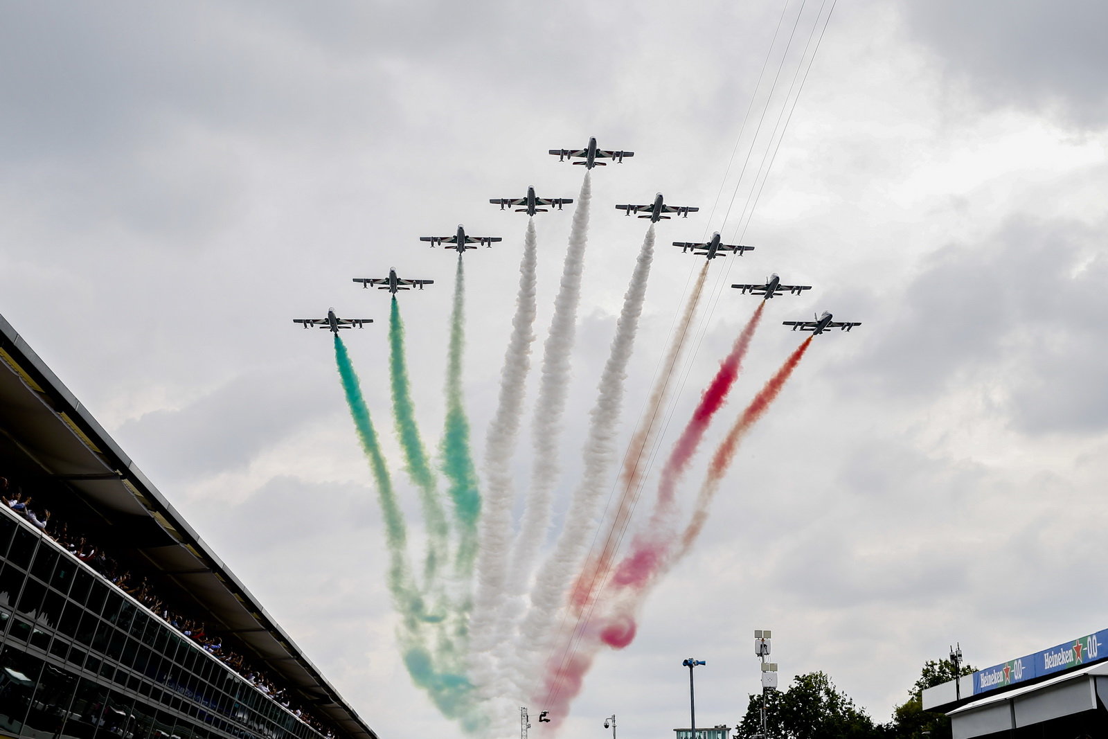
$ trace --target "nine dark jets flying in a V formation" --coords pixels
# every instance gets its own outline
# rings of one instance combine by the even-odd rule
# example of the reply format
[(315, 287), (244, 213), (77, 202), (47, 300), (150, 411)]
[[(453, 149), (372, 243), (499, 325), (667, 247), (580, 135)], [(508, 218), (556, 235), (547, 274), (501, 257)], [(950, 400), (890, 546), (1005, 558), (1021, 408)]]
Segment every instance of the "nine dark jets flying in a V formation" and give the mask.
[[(571, 164), (584, 165), (586, 170), (607, 165), (607, 162), (602, 162), (599, 160), (609, 160), (616, 164), (623, 164), (625, 158), (635, 156), (635, 152), (599, 148), (596, 145), (595, 136), (588, 140), (588, 145), (585, 148), (552, 148), (550, 150), (550, 153), (557, 156), (558, 162), (570, 161)], [(582, 161), (575, 162), (573, 160)], [(493, 205), (499, 205), (501, 211), (514, 209), (516, 213), (526, 213), (529, 216), (534, 216), (538, 213), (547, 213), (553, 208), (561, 211), (564, 205), (572, 204), (573, 199), (568, 197), (538, 197), (535, 194), (534, 186), (532, 185), (527, 187), (527, 194), (523, 197), (492, 198), (489, 202)], [(695, 206), (667, 205), (661, 193), (655, 195), (654, 202), (649, 204), (617, 205), (616, 208), (624, 211), (626, 216), (639, 214), (639, 218), (649, 218), (652, 224), (670, 219), (673, 217), (670, 214), (674, 214), (679, 218), (687, 218), (688, 214), (697, 213), (700, 209)], [(430, 243), (432, 247), (442, 246), (448, 249), (455, 249), (459, 258), (461, 258), (468, 249), (475, 249), (475, 245), (492, 247), (494, 243), (502, 242), (503, 239), (500, 236), (470, 236), (465, 233), (465, 228), (462, 224), (458, 224), (458, 230), (451, 236), (420, 236), (420, 240)], [(702, 256), (707, 259), (715, 259), (716, 257), (726, 254), (742, 256), (745, 253), (752, 252), (755, 249), (752, 246), (724, 244), (719, 232), (714, 233), (711, 235), (711, 239), (706, 243), (674, 242), (673, 244), (674, 246), (680, 247), (681, 252), (691, 252), (694, 255)], [(391, 268), (389, 269), (388, 277), (356, 277), (353, 278), (353, 281), (361, 283), (363, 288), (372, 286), (381, 290), (388, 290), (393, 297), (396, 297), (400, 290), (411, 290), (414, 288), (422, 290), (425, 285), (434, 284), (433, 279), (407, 279), (399, 277), (397, 275), (397, 270)], [(741, 290), (743, 295), (750, 294), (761, 296), (763, 300), (769, 300), (778, 295), (801, 295), (804, 290), (812, 289), (810, 285), (782, 285), (781, 278), (777, 275), (777, 273), (767, 277), (765, 283), (737, 284), (731, 285), (731, 287)], [(326, 318), (296, 318), (293, 322), (300, 324), (304, 328), (310, 328), (312, 326), (326, 328), (332, 333), (338, 335), (339, 329), (362, 328), (366, 324), (372, 324), (373, 319), (339, 318), (335, 315), (335, 309), (331, 308), (327, 311)], [(791, 326), (794, 331), (811, 331), (813, 336), (824, 333), (832, 328), (849, 331), (855, 326), (861, 326), (861, 324), (856, 321), (837, 321), (828, 311), (815, 316), (814, 320), (782, 321), (782, 324), (784, 326)]]

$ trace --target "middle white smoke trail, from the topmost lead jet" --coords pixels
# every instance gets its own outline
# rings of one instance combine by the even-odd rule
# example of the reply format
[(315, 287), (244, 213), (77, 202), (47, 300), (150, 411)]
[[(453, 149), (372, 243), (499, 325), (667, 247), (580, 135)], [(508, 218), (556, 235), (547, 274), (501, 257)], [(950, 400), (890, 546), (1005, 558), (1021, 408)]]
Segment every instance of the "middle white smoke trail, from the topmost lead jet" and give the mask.
[[(523, 509), (520, 531), (512, 545), (512, 562), (506, 582), (504, 623), (514, 624), (523, 607), (523, 592), (535, 557), (546, 538), (552, 516), (552, 494), (557, 479), (557, 441), (570, 386), (570, 355), (577, 324), (577, 301), (581, 297), (581, 273), (588, 244), (588, 206), (592, 198), (591, 173), (586, 171), (581, 185), (577, 208), (570, 227), (570, 247), (562, 265), (562, 283), (554, 300), (554, 317), (543, 346), (542, 379), (532, 420), (534, 461), (531, 487)], [(501, 634), (503, 638), (505, 635)]]

